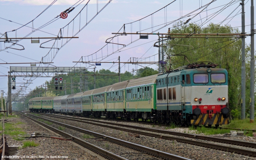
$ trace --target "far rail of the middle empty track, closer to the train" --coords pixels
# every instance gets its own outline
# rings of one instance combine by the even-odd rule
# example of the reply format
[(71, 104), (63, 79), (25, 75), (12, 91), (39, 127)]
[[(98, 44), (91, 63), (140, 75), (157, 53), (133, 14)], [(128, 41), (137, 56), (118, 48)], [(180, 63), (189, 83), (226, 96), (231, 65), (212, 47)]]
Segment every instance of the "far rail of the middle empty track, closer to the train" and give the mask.
[[(76, 121), (76, 122), (82, 122), (82, 123), (87, 123), (85, 121), (92, 121), (92, 122), (97, 122), (97, 123), (117, 125), (117, 126), (139, 129), (139, 130), (150, 131), (150, 132), (164, 133), (164, 134), (188, 137), (188, 138), (193, 138), (193, 139), (208, 140), (208, 141), (214, 141), (214, 142), (219, 142), (219, 143), (227, 143), (227, 144), (232, 144), (232, 145), (237, 145), (237, 146), (256, 148), (256, 143), (253, 143), (253, 142), (246, 142), (246, 141), (240, 141), (240, 140), (229, 140), (229, 139), (202, 136), (202, 135), (196, 135), (196, 134), (159, 130), (159, 129), (147, 128), (147, 127), (141, 127), (141, 126), (135, 126), (135, 125), (117, 124), (117, 123), (113, 123), (113, 122), (105, 122), (105, 121), (85, 119), (85, 118), (76, 118), (76, 117), (70, 117), (70, 118), (67, 117), (66, 118), (66, 117), (63, 117), (63, 116), (54, 116), (54, 115), (49, 115), (49, 114), (44, 114), (44, 115), (52, 116), (52, 117), (56, 117), (56, 118), (61, 118), (61, 119), (66, 119), (66, 120), (72, 120), (72, 121)], [(84, 120), (84, 121), (82, 121), (82, 120)], [(95, 123), (89, 123), (89, 124), (98, 125), (98, 124), (95, 124)], [(99, 126), (108, 128), (108, 126), (106, 126), (106, 125), (99, 125)], [(109, 126), (109, 127), (111, 127), (111, 126)], [(117, 129), (117, 130), (122, 130), (123, 129), (123, 128), (118, 128), (118, 127), (113, 127), (112, 129), (114, 129), (114, 128)]]

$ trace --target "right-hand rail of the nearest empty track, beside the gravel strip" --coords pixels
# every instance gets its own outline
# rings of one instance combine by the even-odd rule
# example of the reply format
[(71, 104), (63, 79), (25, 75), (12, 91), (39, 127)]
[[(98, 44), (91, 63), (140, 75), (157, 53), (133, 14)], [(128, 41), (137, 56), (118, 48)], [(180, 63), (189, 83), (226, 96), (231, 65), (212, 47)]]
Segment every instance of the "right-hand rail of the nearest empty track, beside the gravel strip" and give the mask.
[(132, 143), (132, 142), (128, 142), (128, 141), (125, 141), (125, 140), (119, 140), (119, 139), (116, 139), (116, 138), (113, 138), (113, 137), (110, 137), (110, 136), (107, 136), (107, 135), (104, 135), (104, 134), (88, 131), (88, 130), (85, 130), (85, 129), (82, 129), (82, 128), (78, 128), (78, 127), (71, 126), (71, 125), (68, 125), (68, 124), (53, 121), (53, 120), (50, 120), (50, 119), (47, 119), (47, 118), (35, 116), (35, 115), (32, 115), (32, 114), (28, 114), (28, 115), (31, 115), (31, 116), (34, 116), (34, 117), (37, 117), (37, 118), (40, 118), (40, 119), (44, 119), (44, 120), (52, 122), (54, 124), (58, 124), (58, 125), (61, 125), (61, 126), (64, 126), (64, 127), (67, 127), (67, 128), (79, 131), (79, 132), (83, 132), (85, 134), (90, 134), (90, 135), (93, 135), (95, 137), (106, 137), (107, 140), (109, 140), (111, 142), (114, 142), (116, 144), (121, 144), (121, 145), (124, 145), (125, 147), (129, 147), (129, 148), (132, 148), (132, 149), (137, 148), (137, 150), (139, 150), (139, 151), (145, 151), (147, 154), (148, 153), (150, 155), (153, 154), (153, 156), (159, 156), (160, 158), (163, 157), (163, 158), (169, 158), (169, 159), (172, 159), (172, 160), (190, 160), (190, 159), (185, 158), (185, 157), (173, 155), (173, 154), (170, 154), (170, 153), (166, 153), (166, 152), (159, 151), (159, 150), (156, 150), (156, 149), (153, 149), (153, 148), (145, 147), (145, 146), (135, 144), (135, 143)]

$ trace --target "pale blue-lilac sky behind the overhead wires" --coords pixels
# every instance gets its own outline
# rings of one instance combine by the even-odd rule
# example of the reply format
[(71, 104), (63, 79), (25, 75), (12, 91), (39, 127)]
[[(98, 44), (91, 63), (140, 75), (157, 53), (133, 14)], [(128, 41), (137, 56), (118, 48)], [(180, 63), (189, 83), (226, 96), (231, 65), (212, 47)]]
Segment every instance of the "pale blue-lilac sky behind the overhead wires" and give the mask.
[[(70, 36), (72, 32), (76, 33), (77, 31), (79, 31), (79, 24), (80, 28), (82, 28), (82, 26), (86, 24), (86, 10), (87, 21), (89, 21), (97, 13), (97, 1), (91, 0), (88, 3), (88, 7), (85, 7), (81, 14), (78, 14), (87, 3), (87, 1), (88, 0), (0, 0), (0, 5), (2, 6), (0, 11), (0, 33), (4, 34), (5, 32), (7, 32), (8, 37), (24, 37), (30, 34), (33, 30), (35, 30), (33, 28), (39, 28), (40, 26), (51, 20), (56, 20), (47, 25), (46, 27), (32, 32), (32, 34), (28, 37), (56, 37), (60, 32), (60, 28), (63, 28), (67, 24), (69, 25), (64, 27), (64, 30), (62, 30), (62, 34), (63, 36)], [(78, 61), (82, 56), (88, 56), (97, 51), (99, 52), (87, 57), (85, 60), (83, 58), (83, 60), (91, 61), (93, 59), (94, 61), (99, 61), (102, 59), (102, 56), (106, 57), (106, 55), (111, 54), (113, 51), (116, 51), (122, 47), (122, 45), (108, 44), (108, 48), (107, 46), (105, 46), (101, 52), (101, 48), (106, 45), (106, 39), (114, 36), (111, 33), (118, 32), (124, 24), (136, 21), (132, 24), (127, 24), (125, 26), (125, 31), (127, 33), (136, 33), (140, 30), (141, 33), (150, 33), (152, 32), (152, 25), (154, 26), (153, 31), (163, 27), (155, 33), (166, 33), (168, 31), (168, 28), (172, 27), (173, 24), (167, 25), (165, 27), (164, 24), (169, 24), (168, 22), (177, 20), (179, 18), (186, 21), (188, 20), (188, 18), (192, 17), (187, 17), (185, 16), (186, 14), (200, 8), (198, 11), (191, 14), (198, 13), (204, 9), (203, 6), (205, 4), (211, 2), (210, 0), (176, 0), (172, 4), (168, 5), (166, 8), (158, 11), (172, 1), (173, 0), (112, 0), (100, 13), (98, 13), (98, 15), (92, 21), (90, 21), (89, 24), (87, 24), (82, 30), (80, 30), (80, 32), (76, 35), (79, 38), (71, 39), (58, 51), (52, 61), (52, 65), (57, 67), (73, 67), (74, 65), (76, 65), (76, 63), (73, 63), (73, 61)], [(49, 6), (52, 2), (54, 2), (54, 4), (51, 5), (47, 10), (45, 10), (47, 6)], [(99, 11), (109, 1), (98, 0), (98, 2)], [(211, 18), (212, 13), (219, 11), (225, 6), (225, 4), (228, 4), (229, 2), (234, 3), (222, 12), (219, 12), (219, 14), (216, 15), (214, 18)], [(205, 23), (205, 25), (207, 25), (211, 22), (220, 23), (227, 17), (231, 17), (230, 19), (225, 20), (221, 24), (228, 24), (232, 27), (238, 27), (241, 30), (241, 27), (239, 27), (241, 26), (241, 5), (239, 6), (240, 2), (241, 1), (239, 0), (217, 0), (207, 7), (207, 12), (206, 9), (204, 9), (204, 12), (198, 14), (195, 18), (190, 20), (190, 22), (202, 24), (202, 22), (204, 22), (207, 18), (209, 19)], [(250, 25), (251, 1), (246, 0), (245, 3), (245, 25)], [(75, 7), (75, 9), (72, 12), (68, 13), (68, 17), (66, 19), (55, 18), (69, 7)], [(40, 14), (41, 12), (43, 13)], [(153, 16), (148, 16), (152, 13), (154, 13)], [(76, 15), (78, 16), (76, 17)], [(146, 16), (148, 17), (140, 20), (141, 18), (144, 18)], [(232, 18), (233, 16), (235, 17)], [(73, 23), (72, 20), (74, 17), (76, 18), (74, 19)], [(33, 22), (30, 22), (32, 20)], [(20, 28), (22, 25), (25, 24), (27, 25)], [(123, 32), (123, 28), (120, 30), (120, 32)], [(250, 26), (245, 27), (245, 32), (247, 32), (248, 34), (250, 33)], [(2, 36), (2, 38), (3, 37), (4, 36)], [(129, 44), (137, 38), (139, 38), (138, 35), (118, 36), (118, 41), (117, 38), (115, 38), (114, 43)], [(132, 42), (132, 44), (126, 45), (126, 47), (119, 50), (120, 52), (116, 52), (115, 54), (106, 57), (102, 61), (116, 62), (118, 61), (118, 56), (120, 56), (121, 62), (126, 62), (130, 58), (132, 59), (132, 57), (142, 59), (150, 57), (147, 59), (143, 59), (142, 61), (158, 61), (158, 56), (154, 56), (158, 53), (158, 48), (153, 47), (153, 44), (156, 42), (157, 38), (158, 37), (156, 35), (149, 35), (148, 39), (140, 39), (136, 42)], [(0, 63), (39, 62), (42, 60), (42, 57), (44, 57), (48, 52), (50, 52), (50, 54), (49, 56), (46, 56), (46, 58), (48, 59), (48, 61), (50, 61), (52, 60), (56, 49), (54, 51), (50, 51), (50, 49), (39, 47), (40, 44), (48, 40), (51, 39), (40, 39), (39, 44), (31, 44), (30, 39), (23, 39), (22, 41), (17, 43), (25, 48), (25, 50), (21, 51), (11, 48), (5, 49), (6, 47), (10, 46), (11, 43), (0, 42)], [(67, 39), (65, 40), (67, 41)], [(65, 42), (65, 40), (63, 41)], [(246, 43), (250, 43), (250, 37), (247, 37), (245, 40)], [(60, 42), (63, 43), (63, 41), (58, 41), (58, 45), (60, 46)], [(12, 48), (21, 49), (22, 46), (19, 46), (17, 44), (12, 46)], [(42, 46), (51, 47), (52, 44), (53, 41), (50, 41), (42, 44)], [(46, 58), (44, 58), (44, 61), (46, 61)], [(0, 89), (4, 90), (5, 93), (7, 93), (8, 82), (8, 78), (5, 75), (8, 75), (8, 71), (10, 71), (10, 66), (30, 67), (30, 64), (0, 64)], [(38, 64), (36, 66), (38, 66)], [(145, 67), (145, 65), (143, 66)], [(76, 67), (88, 67), (88, 64), (78, 63)], [(124, 73), (125, 71), (131, 72), (133, 68), (141, 68), (140, 66), (135, 66), (132, 64), (121, 64), (121, 67), (121, 73)], [(157, 66), (151, 65), (149, 67), (156, 69)], [(90, 67), (89, 70), (92, 71), (92, 68), (93, 66)], [(96, 70), (109, 68), (111, 71), (118, 72), (118, 65), (113, 65), (113, 63), (102, 63), (101, 66), (97, 66)], [(36, 78), (28, 86), (28, 90), (23, 93), (27, 94), (30, 89), (34, 89), (36, 86), (40, 86), (44, 84), (46, 80), (49, 81), (50, 79), (51, 77)], [(16, 86), (21, 85), (18, 83), (26, 82), (27, 80), (29, 80), (29, 77), (16, 77)]]

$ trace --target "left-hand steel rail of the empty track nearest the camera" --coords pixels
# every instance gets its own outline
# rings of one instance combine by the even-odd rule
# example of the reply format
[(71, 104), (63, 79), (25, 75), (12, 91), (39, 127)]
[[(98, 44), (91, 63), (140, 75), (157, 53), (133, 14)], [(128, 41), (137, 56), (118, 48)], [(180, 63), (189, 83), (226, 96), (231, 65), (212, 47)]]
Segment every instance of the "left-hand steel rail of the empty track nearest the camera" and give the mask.
[[(21, 114), (20, 112), (17, 112), (17, 113), (19, 113), (19, 114)], [(97, 154), (99, 154), (100, 156), (103, 156), (103, 157), (105, 157), (105, 158), (108, 158), (108, 159), (117, 159), (117, 160), (127, 160), (127, 159), (125, 159), (125, 158), (123, 158), (123, 157), (121, 157), (121, 156), (118, 156), (118, 155), (116, 155), (116, 154), (114, 154), (114, 153), (111, 153), (111, 152), (109, 152), (109, 151), (107, 151), (107, 150), (104, 150), (104, 149), (102, 149), (102, 148), (100, 148), (100, 147), (97, 147), (97, 146), (95, 146), (95, 145), (93, 145), (93, 144), (91, 144), (91, 143), (88, 143), (88, 142), (86, 142), (86, 141), (84, 141), (84, 140), (81, 140), (81, 139), (79, 139), (79, 138), (76, 138), (75, 136), (72, 136), (72, 135), (70, 135), (70, 134), (68, 134), (68, 133), (66, 133), (66, 132), (62, 132), (62, 131), (60, 131), (60, 130), (58, 130), (58, 129), (56, 129), (56, 128), (53, 128), (53, 127), (51, 127), (51, 126), (49, 126), (49, 125), (47, 125), (47, 124), (44, 124), (44, 123), (42, 123), (42, 122), (40, 122), (40, 121), (37, 121), (37, 120), (35, 120), (35, 119), (33, 119), (33, 118), (31, 118), (31, 117), (29, 117), (29, 116), (26, 116), (26, 115), (24, 115), (24, 114), (21, 114), (22, 116), (24, 116), (24, 117), (26, 117), (26, 118), (28, 118), (28, 119), (30, 119), (30, 120), (32, 120), (32, 121), (34, 121), (34, 122), (36, 122), (36, 123), (38, 123), (38, 124), (40, 124), (40, 125), (42, 125), (42, 126), (44, 126), (44, 127), (46, 127), (46, 128), (48, 128), (48, 129), (50, 129), (50, 130), (52, 130), (53, 132), (56, 132), (56, 133), (58, 133), (58, 134), (60, 134), (60, 135), (62, 135), (62, 136), (65, 136), (65, 137), (69, 137), (69, 138), (72, 138), (72, 141), (74, 141), (74, 142), (76, 142), (77, 144), (79, 144), (79, 145), (81, 145), (81, 146), (83, 146), (83, 147), (85, 147), (85, 148), (87, 148), (87, 149), (90, 149), (90, 150), (92, 150), (93, 152), (96, 152)], [(30, 114), (29, 114), (30, 115)], [(40, 117), (39, 117), (40, 118)]]

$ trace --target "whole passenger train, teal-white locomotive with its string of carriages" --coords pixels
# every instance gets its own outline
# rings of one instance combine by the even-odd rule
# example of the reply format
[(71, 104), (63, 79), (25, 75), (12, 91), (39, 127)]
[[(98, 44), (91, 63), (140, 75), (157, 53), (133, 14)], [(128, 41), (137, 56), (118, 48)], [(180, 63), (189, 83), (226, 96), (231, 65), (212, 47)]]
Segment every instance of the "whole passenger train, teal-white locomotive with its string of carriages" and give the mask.
[(29, 100), (30, 111), (188, 125), (231, 122), (228, 72), (213, 63), (193, 63), (166, 73), (56, 97)]

